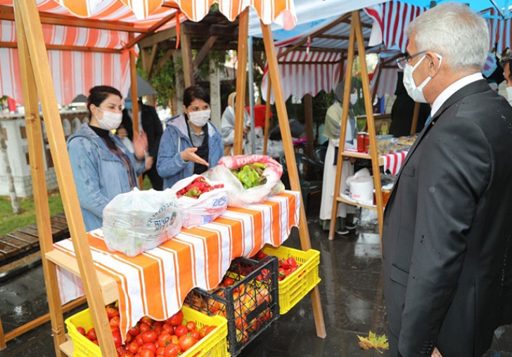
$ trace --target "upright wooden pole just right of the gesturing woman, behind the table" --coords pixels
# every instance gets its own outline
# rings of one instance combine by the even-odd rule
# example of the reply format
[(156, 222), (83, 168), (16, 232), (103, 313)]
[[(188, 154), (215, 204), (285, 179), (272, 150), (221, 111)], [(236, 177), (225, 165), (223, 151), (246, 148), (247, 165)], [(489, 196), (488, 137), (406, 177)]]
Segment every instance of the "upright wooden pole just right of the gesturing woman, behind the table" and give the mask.
[(234, 155), (243, 153), (243, 111), (245, 110), (245, 87), (247, 84), (247, 56), (249, 37), (249, 8), (245, 8), (238, 18), (238, 68), (236, 70), (236, 97), (235, 97), (235, 140), (233, 142)]

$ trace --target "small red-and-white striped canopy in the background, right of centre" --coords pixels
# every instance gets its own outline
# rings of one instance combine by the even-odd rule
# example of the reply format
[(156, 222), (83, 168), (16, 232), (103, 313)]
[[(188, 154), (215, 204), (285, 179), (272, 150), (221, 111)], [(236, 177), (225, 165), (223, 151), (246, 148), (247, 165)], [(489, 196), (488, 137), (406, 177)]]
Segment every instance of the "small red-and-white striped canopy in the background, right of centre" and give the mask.
[[(286, 51), (278, 48), (276, 53)], [(279, 72), (283, 84), (284, 98), (292, 94), (302, 98), (306, 94), (316, 96), (322, 89), (331, 91), (340, 82), (341, 53), (312, 51), (290, 51), (279, 58)], [(262, 98), (267, 100), (269, 84), (268, 65), (265, 66), (262, 79)], [(274, 103), (274, 93), (271, 91), (270, 103)]]

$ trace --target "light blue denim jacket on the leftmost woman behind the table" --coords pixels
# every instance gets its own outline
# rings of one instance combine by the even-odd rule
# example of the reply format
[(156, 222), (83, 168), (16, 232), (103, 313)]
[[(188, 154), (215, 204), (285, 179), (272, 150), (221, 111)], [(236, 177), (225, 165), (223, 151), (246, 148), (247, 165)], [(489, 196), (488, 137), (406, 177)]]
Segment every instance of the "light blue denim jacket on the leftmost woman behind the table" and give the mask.
[[(144, 171), (144, 160), (136, 160), (121, 139), (110, 134), (117, 148), (128, 155), (135, 176)], [(115, 196), (131, 190), (127, 170), (103, 140), (89, 127), (82, 124), (68, 138), (68, 152), (85, 229), (91, 231), (103, 226), (103, 209)]]

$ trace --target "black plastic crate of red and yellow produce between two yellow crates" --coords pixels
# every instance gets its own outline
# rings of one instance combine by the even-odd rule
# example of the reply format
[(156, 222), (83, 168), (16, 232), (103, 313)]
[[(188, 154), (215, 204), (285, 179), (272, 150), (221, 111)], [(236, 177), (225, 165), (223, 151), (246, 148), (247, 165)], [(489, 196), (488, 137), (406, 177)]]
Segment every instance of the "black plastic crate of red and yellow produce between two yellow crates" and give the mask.
[(228, 320), (228, 350), (236, 356), (242, 349), (279, 318), (279, 292), (276, 257), (262, 261), (237, 258), (226, 277), (233, 285), (213, 292), (193, 289), (184, 304), (210, 316)]

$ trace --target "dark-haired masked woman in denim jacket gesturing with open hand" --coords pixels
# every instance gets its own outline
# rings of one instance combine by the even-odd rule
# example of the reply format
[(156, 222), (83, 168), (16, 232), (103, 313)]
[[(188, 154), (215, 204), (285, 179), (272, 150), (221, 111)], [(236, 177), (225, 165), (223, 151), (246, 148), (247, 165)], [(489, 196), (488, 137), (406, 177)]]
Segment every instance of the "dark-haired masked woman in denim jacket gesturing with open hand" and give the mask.
[(164, 189), (215, 167), (222, 157), (222, 138), (210, 122), (210, 94), (200, 86), (189, 86), (183, 96), (184, 113), (167, 122), (160, 140), (157, 170)]

